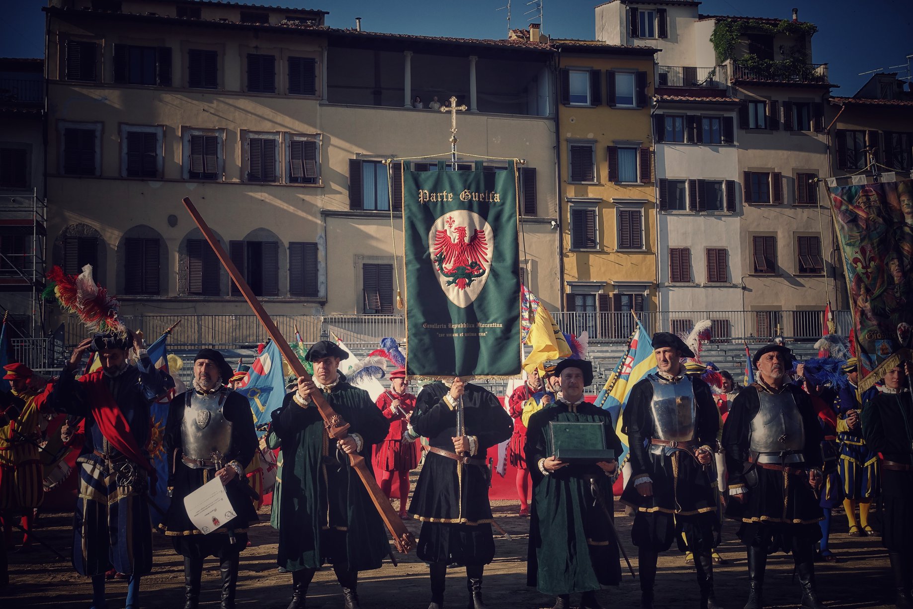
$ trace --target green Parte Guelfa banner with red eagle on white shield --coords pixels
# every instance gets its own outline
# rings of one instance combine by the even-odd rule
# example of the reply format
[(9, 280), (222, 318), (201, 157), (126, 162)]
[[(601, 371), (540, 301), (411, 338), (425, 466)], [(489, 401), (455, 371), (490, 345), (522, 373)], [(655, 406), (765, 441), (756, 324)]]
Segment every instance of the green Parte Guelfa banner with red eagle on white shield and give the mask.
[(519, 374), (514, 163), (496, 172), (482, 163), (475, 171), (403, 169), (408, 373)]

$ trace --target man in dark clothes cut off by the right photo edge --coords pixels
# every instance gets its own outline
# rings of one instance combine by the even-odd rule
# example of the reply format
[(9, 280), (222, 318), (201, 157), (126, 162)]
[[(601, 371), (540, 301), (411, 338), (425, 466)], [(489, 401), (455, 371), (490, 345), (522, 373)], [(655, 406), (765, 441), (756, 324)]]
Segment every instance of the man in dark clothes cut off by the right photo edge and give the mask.
[(913, 398), (911, 364), (885, 374), (885, 386), (862, 409), (862, 433), (869, 449), (881, 454), (885, 502), (881, 541), (894, 574), (897, 609), (913, 609)]

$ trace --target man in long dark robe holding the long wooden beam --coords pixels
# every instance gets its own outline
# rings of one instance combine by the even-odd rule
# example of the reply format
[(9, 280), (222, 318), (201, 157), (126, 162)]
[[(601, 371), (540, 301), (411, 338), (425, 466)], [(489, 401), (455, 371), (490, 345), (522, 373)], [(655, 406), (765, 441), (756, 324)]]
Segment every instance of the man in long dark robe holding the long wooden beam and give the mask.
[[(298, 385), (273, 412), (272, 434), (284, 455), (278, 504), (278, 564), (292, 574), (289, 609), (303, 609), (314, 572), (333, 565), (346, 609), (357, 609), (358, 572), (379, 569), (390, 551), (383, 520), (350, 455), (364, 457), (370, 469), (373, 445), (387, 436), (390, 421), (363, 389), (339, 372), (348, 357), (339, 345), (319, 341), (305, 359), (313, 363), (312, 380)], [(349, 424), (349, 435), (333, 442), (311, 396), (323, 394)]]

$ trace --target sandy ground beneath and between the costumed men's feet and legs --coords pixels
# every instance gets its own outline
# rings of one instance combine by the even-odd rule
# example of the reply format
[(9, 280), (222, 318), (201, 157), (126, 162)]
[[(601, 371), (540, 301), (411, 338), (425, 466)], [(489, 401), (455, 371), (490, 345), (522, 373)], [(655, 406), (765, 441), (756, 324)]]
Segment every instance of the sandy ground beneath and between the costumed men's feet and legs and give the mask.
[[(397, 505), (394, 501), (394, 507)], [(508, 531), (512, 541), (497, 536), (498, 555), (485, 571), (483, 595), (488, 607), (551, 607), (553, 599), (526, 586), (526, 551), (529, 520), (516, 515), (516, 504), (509, 501), (494, 502), (496, 518)], [(616, 509), (620, 509), (616, 504)], [(877, 512), (873, 510), (874, 526)], [(630, 542), (632, 519), (620, 511), (616, 526), (624, 541), (624, 548), (637, 568), (636, 549)], [(69, 557), (71, 549), (70, 514), (44, 514), (39, 520), (37, 534), (42, 541), (54, 546)], [(285, 609), (291, 594), (291, 576), (277, 572), (276, 551), (278, 533), (269, 526), (268, 508), (262, 509), (260, 523), (251, 530), (253, 545), (241, 554), (241, 572), (238, 578), (237, 607), (248, 609)], [(419, 523), (410, 521), (409, 529), (418, 535)], [(723, 530), (724, 542), (719, 548), (726, 564), (716, 568), (717, 598), (727, 608), (740, 608), (747, 595), (745, 552), (735, 537), (736, 525), (728, 522)], [(818, 563), (818, 588), (829, 607), (893, 607), (892, 581), (888, 572), (887, 554), (878, 538), (849, 537), (842, 510), (834, 514), (834, 532), (831, 547), (842, 562)], [(19, 539), (18, 533), (16, 538)], [(142, 578), (143, 609), (173, 608), (184, 606), (184, 569), (169, 541), (155, 535), (155, 567), (151, 575)], [(15, 552), (10, 556), (10, 585), (0, 591), (3, 609), (86, 609), (90, 604), (90, 584), (72, 570), (69, 561), (57, 559), (50, 551), (37, 546), (31, 551)], [(389, 562), (383, 568), (360, 575), (359, 594), (364, 609), (415, 607), (422, 609), (428, 603), (428, 576), (425, 564), (415, 554), (397, 555), (399, 566)], [(688, 567), (681, 554), (668, 551), (660, 556), (656, 578), (656, 607), (698, 606), (698, 586), (692, 567)], [(799, 583), (791, 580), (792, 559), (783, 554), (771, 557), (768, 562), (765, 600), (770, 609), (798, 606)], [(215, 559), (205, 563), (203, 593), (200, 607), (218, 607), (218, 565)], [(109, 583), (109, 606), (123, 607), (126, 584)], [(617, 588), (599, 593), (601, 603), (607, 608), (638, 605), (638, 583), (625, 572), (624, 582)], [(576, 603), (573, 597), (572, 602)], [(454, 569), (447, 575), (447, 607), (462, 607), (467, 603), (465, 572)], [(317, 573), (308, 594), (310, 609), (339, 608), (342, 596), (331, 568)]]

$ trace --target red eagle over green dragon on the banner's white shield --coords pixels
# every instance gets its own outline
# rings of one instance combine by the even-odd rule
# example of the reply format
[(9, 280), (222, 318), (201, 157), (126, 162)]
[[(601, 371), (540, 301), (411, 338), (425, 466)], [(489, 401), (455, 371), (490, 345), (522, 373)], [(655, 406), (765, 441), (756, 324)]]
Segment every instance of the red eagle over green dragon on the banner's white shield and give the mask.
[(452, 215), (446, 219), (446, 230), (436, 231), (431, 257), (437, 272), (446, 277), (446, 285), (467, 289), (477, 278), (485, 275), (488, 265), (488, 243), (485, 231), (476, 229), (468, 237), (466, 226), (454, 226)]

